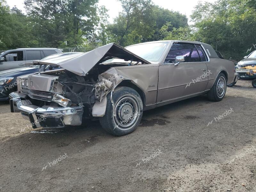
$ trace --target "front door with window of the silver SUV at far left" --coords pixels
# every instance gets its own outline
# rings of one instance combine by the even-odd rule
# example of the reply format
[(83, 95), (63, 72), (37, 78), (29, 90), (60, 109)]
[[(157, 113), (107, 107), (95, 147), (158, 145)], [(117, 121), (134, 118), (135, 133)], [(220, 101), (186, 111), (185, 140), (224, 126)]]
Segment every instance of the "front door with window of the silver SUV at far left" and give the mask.
[(4, 54), (4, 62), (0, 62), (0, 71), (24, 67), (24, 51), (11, 51)]

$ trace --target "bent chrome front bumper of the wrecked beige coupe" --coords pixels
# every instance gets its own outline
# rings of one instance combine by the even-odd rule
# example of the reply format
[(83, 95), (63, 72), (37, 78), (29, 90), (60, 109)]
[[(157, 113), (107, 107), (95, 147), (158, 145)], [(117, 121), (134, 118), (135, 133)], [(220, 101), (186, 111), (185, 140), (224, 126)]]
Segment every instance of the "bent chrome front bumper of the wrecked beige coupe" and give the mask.
[(12, 92), (9, 98), (11, 112), (21, 112), (22, 117), (29, 120), (34, 129), (82, 124), (83, 107), (38, 107), (33, 105), (30, 100), (27, 100), (26, 95), (18, 92)]

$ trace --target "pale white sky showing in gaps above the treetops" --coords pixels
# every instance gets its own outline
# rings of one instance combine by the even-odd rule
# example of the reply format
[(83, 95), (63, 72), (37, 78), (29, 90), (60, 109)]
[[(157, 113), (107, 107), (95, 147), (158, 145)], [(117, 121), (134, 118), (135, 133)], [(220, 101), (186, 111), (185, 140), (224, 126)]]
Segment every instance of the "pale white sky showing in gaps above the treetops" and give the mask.
[[(14, 5), (17, 6), (18, 9), (23, 10), (24, 4), (23, 0), (6, 0), (7, 3), (12, 8)], [(182, 14), (187, 15), (188, 19), (190, 20), (189, 16), (192, 14), (194, 7), (197, 5), (199, 0), (152, 0), (156, 5), (159, 5), (165, 9), (179, 11)], [(201, 0), (202, 2), (207, 1), (210, 3), (215, 2), (216, 0)], [(121, 4), (117, 0), (99, 0), (99, 5), (105, 5), (106, 8), (109, 10), (109, 22), (112, 23), (113, 19), (118, 15), (118, 12), (122, 11)], [(189, 22), (191, 23), (191, 22)]]

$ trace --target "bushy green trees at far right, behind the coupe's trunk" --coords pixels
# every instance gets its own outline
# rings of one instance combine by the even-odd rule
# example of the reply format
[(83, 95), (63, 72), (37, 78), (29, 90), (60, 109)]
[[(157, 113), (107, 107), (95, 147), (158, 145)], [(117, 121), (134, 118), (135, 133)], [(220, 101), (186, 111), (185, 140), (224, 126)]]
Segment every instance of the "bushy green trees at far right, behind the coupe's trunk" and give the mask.
[[(197, 41), (211, 44), (228, 59), (241, 60), (256, 44), (256, 0), (199, 3), (191, 18)], [(256, 45), (255, 45), (256, 46)]]

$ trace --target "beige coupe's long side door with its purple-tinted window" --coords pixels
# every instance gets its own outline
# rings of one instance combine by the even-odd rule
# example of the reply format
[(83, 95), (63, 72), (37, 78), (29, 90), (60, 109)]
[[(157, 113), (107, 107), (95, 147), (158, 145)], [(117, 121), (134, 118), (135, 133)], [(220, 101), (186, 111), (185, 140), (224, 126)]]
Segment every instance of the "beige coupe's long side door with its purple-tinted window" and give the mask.
[[(175, 66), (177, 56), (185, 61)], [(164, 64), (159, 66), (157, 103), (204, 92), (209, 76), (207, 60), (201, 45), (173, 43)]]

